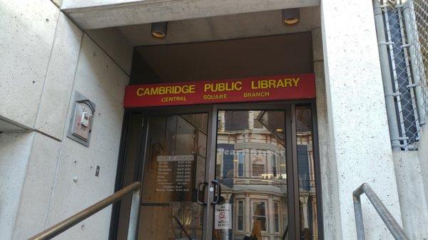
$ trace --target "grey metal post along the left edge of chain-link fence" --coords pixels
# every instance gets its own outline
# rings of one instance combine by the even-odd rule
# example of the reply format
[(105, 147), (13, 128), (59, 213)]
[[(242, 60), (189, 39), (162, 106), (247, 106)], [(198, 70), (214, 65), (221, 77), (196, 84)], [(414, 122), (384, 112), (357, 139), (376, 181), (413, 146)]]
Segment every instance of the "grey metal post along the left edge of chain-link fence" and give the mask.
[[(382, 8), (379, 0), (373, 0), (374, 6), (374, 22), (376, 24), (377, 41), (379, 42), (379, 58), (382, 71), (382, 80), (385, 94), (385, 105), (387, 107), (387, 117), (389, 125), (389, 136), (391, 137), (392, 150), (401, 150), (399, 142), (399, 130), (397, 122), (397, 112), (394, 103), (394, 90), (392, 88), (392, 79), (390, 73), (388, 49), (384, 31), (384, 20), (382, 16)], [(382, 43), (382, 44), (381, 44)]]

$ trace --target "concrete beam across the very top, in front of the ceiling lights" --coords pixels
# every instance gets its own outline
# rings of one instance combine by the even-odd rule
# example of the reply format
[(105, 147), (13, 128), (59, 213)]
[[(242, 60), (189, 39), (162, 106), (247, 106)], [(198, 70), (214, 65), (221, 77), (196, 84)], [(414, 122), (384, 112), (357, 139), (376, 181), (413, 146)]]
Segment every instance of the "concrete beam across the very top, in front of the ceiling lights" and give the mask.
[(88, 30), (319, 5), (320, 0), (64, 0), (61, 11)]

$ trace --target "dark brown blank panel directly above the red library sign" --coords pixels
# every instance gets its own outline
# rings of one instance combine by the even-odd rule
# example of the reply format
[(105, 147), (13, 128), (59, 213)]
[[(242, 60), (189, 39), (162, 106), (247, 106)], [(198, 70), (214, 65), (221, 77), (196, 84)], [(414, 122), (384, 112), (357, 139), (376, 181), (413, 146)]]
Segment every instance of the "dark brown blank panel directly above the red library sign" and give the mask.
[[(136, 48), (161, 82), (312, 73), (310, 32)], [(148, 83), (144, 64), (134, 62), (133, 83)]]

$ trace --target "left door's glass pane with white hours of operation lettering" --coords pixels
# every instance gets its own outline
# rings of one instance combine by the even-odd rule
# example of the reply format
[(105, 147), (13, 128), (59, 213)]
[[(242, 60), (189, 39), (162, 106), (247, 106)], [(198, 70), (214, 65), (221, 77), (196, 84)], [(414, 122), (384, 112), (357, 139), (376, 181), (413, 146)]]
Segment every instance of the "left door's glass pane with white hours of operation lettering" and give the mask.
[(139, 240), (202, 240), (208, 113), (148, 116)]

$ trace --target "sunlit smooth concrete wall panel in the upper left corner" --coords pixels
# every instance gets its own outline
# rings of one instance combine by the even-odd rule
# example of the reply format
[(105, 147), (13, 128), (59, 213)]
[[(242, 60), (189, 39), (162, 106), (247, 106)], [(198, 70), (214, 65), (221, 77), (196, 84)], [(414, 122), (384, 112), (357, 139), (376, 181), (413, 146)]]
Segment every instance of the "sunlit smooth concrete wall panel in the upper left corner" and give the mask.
[(0, 16), (0, 116), (34, 128), (59, 9), (1, 0)]

